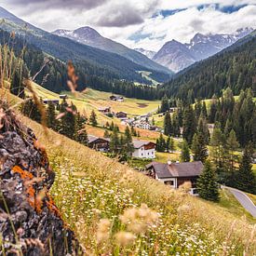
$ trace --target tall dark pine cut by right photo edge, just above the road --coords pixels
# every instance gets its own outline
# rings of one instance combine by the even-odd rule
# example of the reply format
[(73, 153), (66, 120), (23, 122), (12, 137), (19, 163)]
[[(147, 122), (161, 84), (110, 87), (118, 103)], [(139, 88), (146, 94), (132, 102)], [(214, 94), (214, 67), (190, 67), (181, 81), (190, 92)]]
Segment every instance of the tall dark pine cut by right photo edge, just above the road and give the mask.
[(256, 194), (256, 177), (252, 171), (251, 152), (252, 150), (249, 144), (244, 150), (239, 170), (236, 172), (235, 186), (242, 191)]

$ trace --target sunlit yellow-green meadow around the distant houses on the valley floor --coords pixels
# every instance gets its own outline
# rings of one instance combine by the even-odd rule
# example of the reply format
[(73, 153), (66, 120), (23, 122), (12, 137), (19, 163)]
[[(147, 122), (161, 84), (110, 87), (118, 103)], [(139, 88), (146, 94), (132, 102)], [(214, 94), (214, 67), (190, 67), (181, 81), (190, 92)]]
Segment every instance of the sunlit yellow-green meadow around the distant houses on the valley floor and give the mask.
[[(33, 83), (34, 89), (38, 96), (42, 99), (59, 99), (59, 95), (46, 88), (40, 87), (39, 85)], [(146, 115), (148, 113), (154, 113), (157, 110), (160, 101), (143, 101), (138, 99), (126, 98), (124, 102), (110, 101), (109, 97), (111, 93), (103, 92), (99, 90), (94, 90), (88, 88), (84, 92), (78, 93), (74, 96), (70, 92), (64, 92), (69, 96), (69, 102), (74, 102), (74, 105), (78, 108), (78, 111), (90, 115), (91, 111), (94, 110), (98, 116), (98, 123), (102, 127), (106, 122), (111, 123), (114, 121), (116, 125), (119, 126), (121, 131), (125, 130), (125, 126), (121, 125), (118, 118), (110, 118), (106, 115), (102, 115), (98, 109), (101, 107), (110, 106), (113, 112), (124, 111), (128, 113), (129, 117), (134, 117), (136, 115)], [(150, 130), (138, 129), (141, 133), (141, 139), (153, 140), (155, 141), (159, 134)], [(88, 133), (95, 136), (103, 136), (103, 128), (93, 128), (88, 126)]]

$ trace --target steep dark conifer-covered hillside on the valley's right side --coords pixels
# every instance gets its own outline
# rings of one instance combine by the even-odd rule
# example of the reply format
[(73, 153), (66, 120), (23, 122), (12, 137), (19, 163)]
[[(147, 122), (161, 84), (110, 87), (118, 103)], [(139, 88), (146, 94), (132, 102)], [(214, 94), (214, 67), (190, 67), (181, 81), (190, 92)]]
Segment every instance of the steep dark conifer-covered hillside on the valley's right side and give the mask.
[[(221, 53), (200, 61), (177, 74), (161, 89), (168, 96), (186, 99), (209, 99), (220, 96), (223, 88), (232, 88), (235, 95), (241, 89), (256, 91), (256, 33), (249, 34)], [(189, 93), (188, 93), (189, 92)]]

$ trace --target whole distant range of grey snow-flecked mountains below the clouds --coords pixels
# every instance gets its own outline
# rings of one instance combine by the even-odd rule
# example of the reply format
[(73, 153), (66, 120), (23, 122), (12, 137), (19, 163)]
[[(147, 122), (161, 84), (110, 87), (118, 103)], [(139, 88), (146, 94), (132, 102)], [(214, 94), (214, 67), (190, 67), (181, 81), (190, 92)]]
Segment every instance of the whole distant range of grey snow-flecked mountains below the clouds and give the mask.
[[(90, 47), (116, 53), (137, 64), (159, 70), (155, 62), (168, 70), (178, 73), (196, 61), (202, 61), (220, 52), (223, 48), (252, 32), (252, 28), (237, 30), (234, 34), (195, 34), (189, 44), (176, 40), (168, 41), (158, 52), (143, 48), (130, 49), (109, 38), (101, 36), (96, 30), (86, 26), (76, 30), (59, 29), (52, 34), (70, 38)], [(147, 58), (145, 58), (147, 57)], [(150, 61), (153, 60), (153, 61)]]

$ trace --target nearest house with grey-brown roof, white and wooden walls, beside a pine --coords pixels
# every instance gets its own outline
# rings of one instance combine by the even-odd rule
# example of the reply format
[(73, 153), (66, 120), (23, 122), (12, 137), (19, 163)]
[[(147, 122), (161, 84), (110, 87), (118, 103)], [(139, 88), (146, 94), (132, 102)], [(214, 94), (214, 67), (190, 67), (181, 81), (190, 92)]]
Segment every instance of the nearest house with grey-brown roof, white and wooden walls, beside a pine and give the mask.
[(184, 182), (191, 182), (192, 188), (196, 187), (196, 180), (204, 166), (201, 161), (167, 164), (152, 162), (146, 166), (148, 175), (171, 188), (177, 189)]

